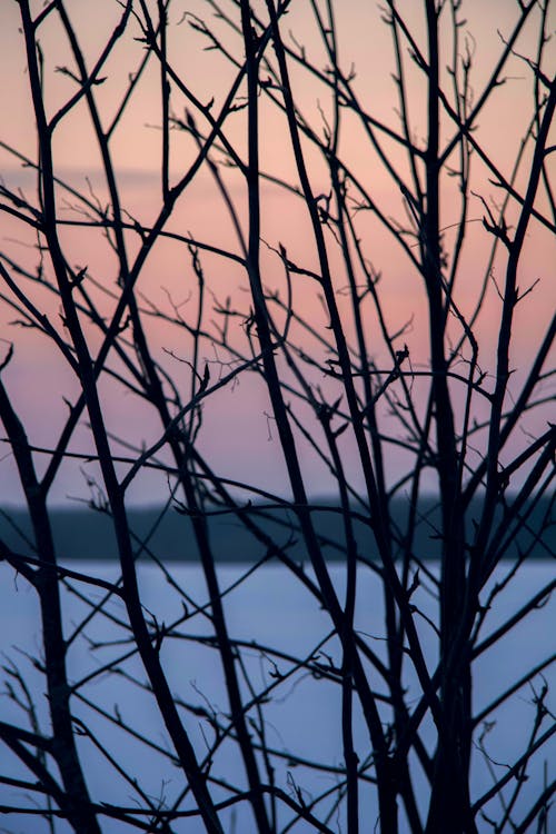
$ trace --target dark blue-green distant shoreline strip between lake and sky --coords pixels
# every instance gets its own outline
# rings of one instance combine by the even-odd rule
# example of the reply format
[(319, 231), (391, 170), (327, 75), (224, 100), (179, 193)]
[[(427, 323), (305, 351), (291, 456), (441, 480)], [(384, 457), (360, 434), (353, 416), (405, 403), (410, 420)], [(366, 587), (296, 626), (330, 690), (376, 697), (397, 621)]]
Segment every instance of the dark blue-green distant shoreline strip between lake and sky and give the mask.
[[(440, 543), (435, 535), (436, 499), (434, 496), (424, 498), (419, 506), (423, 520), (415, 536), (414, 552), (424, 560), (437, 559), (440, 555)], [(317, 502), (316, 502), (317, 503)], [(403, 525), (407, 514), (407, 502), (398, 499), (393, 503), (391, 514), (398, 525)], [(341, 553), (342, 525), (338, 506), (320, 499), (318, 509), (314, 510), (315, 526), (321, 538), (327, 560), (342, 562)], [(468, 513), (468, 523), (477, 520), (480, 510), (479, 500)], [(540, 528), (542, 519), (549, 509), (549, 499), (539, 502), (529, 519), (530, 532), (519, 535), (519, 545), (526, 548), (533, 542), (533, 535)], [(300, 544), (300, 536), (294, 529), (291, 510), (271, 509), (266, 512), (261, 520), (261, 506), (254, 504), (248, 512), (254, 520), (260, 524), (267, 535), (280, 546), (289, 543), (288, 555), (296, 560), (306, 558)], [(138, 507), (129, 509), (130, 527), (136, 535), (136, 544), (148, 537), (147, 547), (165, 562), (183, 562), (186, 564), (199, 560), (195, 544), (192, 523), (188, 516), (175, 509), (167, 512), (162, 522), (157, 526), (160, 508)], [(110, 517), (88, 508), (52, 508), (50, 510), (57, 553), (62, 562), (66, 560), (115, 560), (118, 558)], [(10, 520), (11, 519), (11, 520)], [(266, 548), (250, 534), (246, 533), (234, 514), (217, 514), (209, 517), (209, 535), (216, 560), (221, 564), (247, 563), (262, 558)], [(377, 556), (373, 533), (367, 524), (359, 518), (354, 523), (359, 554), (364, 558), (374, 559)], [(32, 555), (31, 525), (28, 513), (21, 508), (0, 508), (0, 539), (18, 553)], [(291, 544), (291, 539), (297, 539)], [(556, 552), (556, 525), (545, 532), (544, 544), (536, 544), (528, 558), (546, 560), (554, 557)], [(515, 548), (514, 548), (515, 552)], [(148, 554), (147, 554), (148, 557)], [(512, 558), (512, 554), (508, 554)]]

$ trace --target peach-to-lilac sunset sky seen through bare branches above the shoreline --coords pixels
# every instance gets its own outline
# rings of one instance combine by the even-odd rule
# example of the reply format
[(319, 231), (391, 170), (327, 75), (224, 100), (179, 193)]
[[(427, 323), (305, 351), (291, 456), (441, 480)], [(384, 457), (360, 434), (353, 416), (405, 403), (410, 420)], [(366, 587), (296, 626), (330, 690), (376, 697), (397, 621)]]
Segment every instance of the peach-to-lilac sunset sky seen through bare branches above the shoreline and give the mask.
[[(148, 3), (151, 11), (156, 11), (156, 3)], [(440, 40), (441, 66), (445, 67), (451, 57), (451, 36), (449, 27), (449, 3), (445, 3), (443, 16), (446, 27)], [(85, 3), (81, 0), (67, 2), (69, 17), (79, 38), (88, 67), (92, 67), (101, 53), (103, 46), (113, 27), (121, 16), (121, 7), (113, 0), (98, 0), (96, 3)], [(489, 77), (499, 54), (503, 39), (510, 31), (518, 4), (508, 0), (493, 0), (489, 3), (479, 0), (467, 0), (463, 4), (461, 17), (466, 22), (461, 26), (461, 50), (466, 44), (474, 54), (473, 95), (478, 99), (485, 80)], [(40, 13), (42, 3), (32, 3), (33, 13)], [(230, 14), (232, 23), (237, 26), (238, 18), (234, 4), (221, 3), (222, 10)], [(264, 3), (254, 3), (254, 8), (261, 12)], [(324, 8), (320, 4), (319, 8)], [(409, 29), (415, 32), (419, 47), (425, 49), (424, 16), (421, 3), (398, 3)], [(139, 12), (138, 12), (139, 13)], [(196, 0), (195, 2), (175, 1), (169, 7), (168, 56), (171, 66), (179, 77), (185, 80), (191, 93), (202, 102), (214, 98), (212, 113), (217, 113), (225, 96), (235, 78), (236, 70), (229, 60), (217, 50), (207, 50), (207, 39), (199, 31), (200, 20), (214, 28), (222, 44), (222, 49), (241, 60), (241, 44), (237, 33), (221, 19), (215, 19), (210, 3)], [(550, 6), (550, 18), (547, 31), (554, 30), (555, 10)], [(345, 0), (336, 4), (336, 22), (338, 34), (339, 63), (347, 73), (355, 67), (356, 78), (354, 90), (365, 109), (384, 121), (391, 129), (399, 129), (398, 100), (396, 83), (393, 79), (395, 63), (393, 43), (381, 20), (380, 7), (375, 3), (364, 3), (358, 0)], [(538, 14), (534, 12), (524, 31), (516, 50), (523, 54), (534, 53), (538, 27)], [(193, 26), (191, 26), (193, 24)], [(288, 44), (304, 44), (307, 57), (322, 67), (326, 63), (322, 44), (316, 34), (315, 18), (311, 3), (308, 0), (292, 0), (291, 9), (282, 22), (282, 33)], [(130, 73), (137, 71), (145, 54), (143, 43), (138, 40), (140, 30), (137, 20), (132, 18), (129, 30), (118, 41), (117, 48), (101, 71), (106, 80), (95, 88), (99, 111), (105, 129), (111, 123), (118, 102), (121, 100), (130, 79)], [(47, 113), (51, 118), (57, 110), (73, 95), (75, 81), (60, 71), (68, 67), (75, 70), (68, 39), (62, 30), (59, 18), (50, 14), (41, 26), (39, 41), (44, 57), (43, 90)], [(554, 58), (554, 44), (548, 44)], [(405, 71), (408, 79), (408, 111), (411, 135), (423, 143), (426, 138), (425, 87), (421, 73), (416, 69), (410, 58), (405, 58)], [(547, 59), (546, 66), (549, 67)], [(332, 119), (330, 95), (315, 78), (290, 61), (291, 80), (296, 101), (304, 116), (322, 135), (326, 121)], [(34, 178), (28, 168), (21, 167), (21, 158), (7, 150), (6, 146), (16, 149), (24, 157), (37, 159), (37, 135), (34, 118), (29, 92), (29, 75), (26, 69), (26, 56), (19, 21), (19, 4), (3, 2), (0, 6), (0, 107), (4, 115), (0, 128), (0, 173), (6, 185), (11, 189), (22, 189), (30, 201), (36, 201)], [(492, 155), (498, 169), (508, 177), (519, 142), (523, 128), (532, 112), (532, 77), (527, 66), (517, 56), (512, 60), (505, 73), (504, 86), (496, 90), (492, 105), (481, 112), (478, 120), (478, 137), (481, 147)], [(449, 75), (443, 70), (443, 83), (449, 90)], [(242, 96), (240, 89), (239, 96)], [(241, 103), (241, 98), (238, 99)], [(185, 108), (193, 110), (191, 100), (171, 85), (171, 111), (177, 119), (183, 120)], [(196, 115), (197, 123), (206, 130), (202, 116)], [(160, 71), (155, 60), (147, 66), (137, 87), (128, 109), (118, 128), (115, 130), (110, 150), (118, 176), (118, 183), (126, 209), (141, 224), (148, 226), (157, 217), (161, 200), (161, 106), (160, 106)], [(282, 116), (270, 107), (264, 96), (260, 97), (260, 159), (261, 168), (269, 173), (288, 179), (296, 183), (296, 172), (290, 142)], [(226, 136), (237, 152), (245, 159), (246, 155), (246, 120), (245, 110), (239, 109), (226, 122)], [(443, 126), (443, 139), (451, 136), (447, 122)], [(396, 147), (384, 142), (387, 158), (397, 166), (404, 178), (409, 177), (407, 160), (400, 157)], [(170, 133), (170, 183), (179, 181), (180, 177), (191, 165), (196, 156), (195, 142), (182, 131), (172, 130)], [(327, 193), (329, 185), (322, 160), (307, 149), (307, 158), (314, 192)], [(380, 163), (376, 150), (369, 143), (357, 120), (350, 113), (342, 113), (340, 133), (340, 155), (349, 168), (357, 172), (373, 200), (381, 207), (384, 215), (397, 222), (407, 222), (407, 209), (399, 188), (393, 183), (385, 166)], [(60, 178), (73, 188), (80, 189), (90, 200), (103, 205), (107, 197), (106, 181), (101, 170), (101, 160), (95, 140), (91, 122), (85, 102), (80, 102), (58, 125), (53, 137), (54, 166)], [(216, 153), (215, 161), (221, 161), (222, 155)], [(530, 151), (526, 149), (524, 171), (530, 161)], [(239, 224), (244, 235), (248, 229), (248, 211), (246, 203), (246, 187), (237, 171), (220, 167), (221, 176), (228, 185)], [(465, 315), (469, 315), (476, 304), (480, 290), (492, 247), (492, 237), (483, 227), (481, 218), (485, 214), (484, 203), (497, 206), (502, 199), (489, 181), (492, 173), (485, 170), (480, 160), (473, 160), (473, 188), (470, 197), (468, 224), (466, 227), (466, 246), (461, 258), (460, 278), (457, 285), (457, 301)], [(525, 173), (517, 179), (517, 187), (524, 188)], [(409, 180), (407, 180), (409, 181)], [(306, 208), (302, 202), (279, 189), (276, 185), (265, 183), (262, 195), (262, 228), (264, 239), (261, 264), (264, 280), (269, 287), (280, 289), (286, 286), (282, 268), (271, 247), (279, 244), (287, 247), (288, 257), (302, 264), (306, 269), (315, 269), (318, 265), (316, 252), (311, 244), (311, 232)], [(83, 220), (83, 205), (78, 203), (69, 193), (59, 189), (59, 217), (64, 220)], [(546, 200), (539, 192), (539, 208), (546, 208)], [(0, 200), (3, 202), (3, 200)], [(458, 220), (458, 189), (457, 180), (446, 177), (443, 180), (443, 227), (445, 244), (449, 250), (455, 240), (455, 224)], [(509, 216), (515, 218), (514, 215)], [(411, 321), (398, 347), (406, 341), (415, 368), (425, 367), (428, 359), (426, 308), (420, 276), (416, 274), (407, 256), (393, 241), (391, 236), (369, 214), (357, 216), (360, 238), (365, 247), (365, 255), (374, 269), (381, 272), (378, 285), (388, 325), (398, 330), (405, 322)], [(168, 231), (191, 235), (198, 240), (209, 242), (214, 247), (239, 254), (237, 236), (230, 222), (229, 214), (210, 171), (205, 166), (193, 182), (178, 201), (175, 212), (167, 225)], [(13, 217), (2, 211), (0, 217), (0, 249), (11, 259), (16, 259), (29, 269), (37, 264), (36, 239), (29, 230)], [(117, 289), (117, 262), (106, 236), (101, 232), (67, 225), (60, 228), (60, 238), (64, 247), (66, 257), (76, 268), (87, 267), (88, 274), (95, 277), (105, 290), (112, 292)], [(128, 247), (130, 257), (138, 250), (137, 235), (129, 234)], [(411, 244), (415, 246), (416, 244)], [(347, 278), (341, 257), (331, 236), (327, 240), (330, 262), (335, 274), (337, 298), (340, 310), (345, 315), (348, 335), (353, 334), (353, 325), (347, 308), (345, 287)], [(532, 225), (519, 265), (519, 286), (523, 289), (534, 285), (534, 291), (526, 296), (518, 305), (514, 328), (514, 346), (512, 353), (515, 375), (513, 385), (518, 390), (519, 381), (535, 347), (539, 335), (546, 330), (552, 310), (554, 309), (554, 289), (550, 275), (554, 277), (556, 262), (556, 247), (554, 238), (546, 229)], [(44, 269), (48, 272), (48, 254), (44, 256)], [(224, 260), (214, 255), (203, 255), (202, 265), (207, 277), (207, 298), (205, 321), (207, 329), (218, 314), (211, 310), (230, 296), (235, 304), (240, 305), (248, 315), (246, 295), (246, 276), (244, 270), (229, 259)], [(492, 280), (487, 286), (487, 298), (476, 331), (481, 346), (479, 364), (485, 371), (492, 373), (495, 367), (494, 346), (497, 339), (500, 305), (497, 287), (504, 277), (505, 259), (500, 255), (492, 268)], [(20, 280), (20, 279), (18, 279)], [(29, 287), (28, 284), (26, 284)], [(0, 291), (3, 291), (1, 288)], [(32, 294), (36, 302), (41, 306), (52, 320), (59, 321), (58, 301), (43, 287), (32, 286), (27, 290)], [(106, 291), (91, 289), (98, 298), (100, 309), (110, 315), (113, 299)], [(138, 281), (146, 307), (149, 304), (158, 306), (170, 314), (177, 305), (187, 317), (195, 317), (197, 299), (197, 280), (191, 269), (190, 257), (182, 242), (167, 240), (157, 246), (146, 262)], [(7, 294), (9, 296), (9, 292)], [(326, 334), (327, 317), (319, 300), (318, 288), (310, 278), (299, 277), (295, 282), (296, 310), (307, 318), (309, 324), (320, 332)], [(151, 308), (152, 309), (152, 308)], [(14, 318), (13, 309), (0, 299), (0, 346), (7, 351), (8, 344), (16, 344), (14, 359), (3, 371), (3, 378), (10, 396), (27, 426), (30, 441), (39, 447), (51, 448), (63, 426), (67, 416), (64, 397), (75, 399), (78, 393), (77, 380), (60, 358), (57, 349), (47, 340), (28, 328), (10, 327)], [(160, 316), (147, 316), (148, 334), (153, 355), (165, 364), (177, 379), (181, 394), (187, 394), (190, 374), (187, 361), (191, 359), (191, 340), (172, 328)], [(58, 326), (58, 325), (57, 325)], [(61, 325), (60, 325), (61, 327)], [(369, 312), (370, 350), (377, 365), (387, 363), (388, 354), (379, 335), (376, 317)], [(457, 328), (456, 328), (457, 329)], [(98, 349), (98, 335), (87, 330), (91, 349)], [(455, 332), (455, 331), (454, 331)], [(245, 345), (245, 318), (231, 320), (230, 334), (234, 344)], [(316, 349), (315, 344), (306, 334), (299, 331), (298, 337), (304, 348)], [(201, 346), (202, 361), (207, 363), (211, 379), (216, 380), (230, 371), (230, 358), (222, 355), (218, 346), (206, 339)], [(464, 357), (465, 358), (465, 357)], [(326, 387), (327, 380), (317, 377), (315, 385)], [(418, 397), (416, 383), (416, 396)], [(140, 446), (150, 444), (159, 435), (159, 427), (152, 415), (145, 409), (138, 398), (131, 394), (122, 394), (112, 381), (101, 386), (102, 405), (107, 424), (115, 435), (126, 441)], [(456, 404), (459, 400), (456, 397)], [(299, 413), (305, 414), (302, 409)], [(252, 479), (259, 486), (278, 493), (285, 492), (286, 473), (276, 437), (276, 427), (270, 415), (270, 407), (265, 386), (255, 376), (246, 375), (235, 385), (215, 395), (203, 410), (203, 425), (200, 444), (211, 464), (222, 474), (236, 479)], [(484, 416), (477, 404), (477, 416)], [(546, 415), (540, 413), (527, 417), (519, 443), (528, 443), (530, 435), (542, 430), (546, 423)], [(388, 424), (387, 424), (388, 425)], [(401, 436), (401, 429), (393, 431)], [(2, 444), (2, 446), (4, 446)], [(90, 440), (86, 419), (78, 428), (71, 448), (77, 451), (90, 451)], [(318, 456), (300, 440), (300, 455), (307, 481), (312, 493), (327, 492), (331, 481), (326, 467), (318, 460)], [(120, 444), (113, 445), (118, 454), (122, 450)], [(347, 466), (353, 473), (354, 481), (358, 483), (357, 456), (353, 444), (345, 440), (344, 453)], [(38, 467), (42, 469), (48, 455), (37, 456)], [(398, 447), (393, 447), (388, 458), (390, 478), (395, 480), (407, 465)], [(125, 467), (121, 469), (125, 471)], [(87, 461), (69, 461), (57, 478), (51, 493), (54, 503), (67, 503), (76, 497), (87, 497), (90, 490), (88, 479), (98, 477), (95, 465)], [(13, 460), (8, 448), (0, 453), (0, 504), (19, 502), (20, 493), (16, 488), (16, 473)], [(430, 483), (434, 488), (434, 483)], [(162, 500), (167, 495), (168, 485), (161, 476), (149, 476), (137, 480), (129, 492), (129, 500), (133, 503), (151, 503)]]

